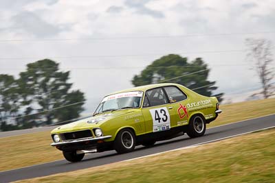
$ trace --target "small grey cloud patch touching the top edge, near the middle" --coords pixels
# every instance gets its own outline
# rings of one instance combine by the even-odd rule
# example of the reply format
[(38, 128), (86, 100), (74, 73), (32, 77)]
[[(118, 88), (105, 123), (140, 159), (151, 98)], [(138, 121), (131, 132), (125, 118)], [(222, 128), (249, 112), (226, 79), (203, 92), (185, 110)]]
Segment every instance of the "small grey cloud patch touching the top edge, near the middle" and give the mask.
[(125, 5), (129, 8), (133, 8), (137, 14), (146, 14), (152, 16), (153, 18), (161, 19), (164, 18), (163, 12), (157, 10), (151, 10), (146, 7), (146, 3), (150, 0), (136, 1), (136, 0), (126, 0)]

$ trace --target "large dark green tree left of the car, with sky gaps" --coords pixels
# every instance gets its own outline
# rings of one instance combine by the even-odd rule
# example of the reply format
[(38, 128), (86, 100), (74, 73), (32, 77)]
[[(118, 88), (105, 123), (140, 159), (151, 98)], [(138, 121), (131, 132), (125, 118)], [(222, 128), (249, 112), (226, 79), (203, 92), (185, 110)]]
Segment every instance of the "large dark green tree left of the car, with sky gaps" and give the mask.
[[(45, 59), (28, 64), (27, 71), (20, 73), (21, 93), (30, 105), (25, 114), (30, 114), (34, 106), (38, 106), (35, 112), (39, 113), (35, 116), (36, 122), (41, 124), (76, 118), (84, 110), (84, 94), (80, 90), (70, 90), (72, 84), (67, 82), (69, 71), (58, 70), (58, 63)], [(74, 105), (70, 105), (72, 103)]]

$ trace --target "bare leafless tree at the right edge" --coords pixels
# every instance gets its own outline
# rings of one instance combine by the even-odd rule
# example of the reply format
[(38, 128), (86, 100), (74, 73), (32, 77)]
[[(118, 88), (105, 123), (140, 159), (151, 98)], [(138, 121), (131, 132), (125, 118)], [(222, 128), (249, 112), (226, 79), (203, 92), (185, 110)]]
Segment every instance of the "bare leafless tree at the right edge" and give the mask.
[(248, 38), (245, 40), (245, 45), (248, 47), (247, 58), (253, 63), (252, 69), (256, 71), (262, 84), (263, 90), (261, 93), (265, 99), (274, 95), (272, 88), (272, 79), (274, 78), (274, 68), (272, 68), (272, 42), (265, 39)]

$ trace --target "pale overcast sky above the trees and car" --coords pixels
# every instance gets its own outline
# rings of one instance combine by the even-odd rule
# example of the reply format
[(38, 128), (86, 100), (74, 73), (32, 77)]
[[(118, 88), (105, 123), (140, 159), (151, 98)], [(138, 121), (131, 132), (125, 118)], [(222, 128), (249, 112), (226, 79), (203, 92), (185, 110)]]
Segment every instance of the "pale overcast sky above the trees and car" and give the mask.
[(203, 58), (214, 93), (243, 101), (261, 88), (245, 38), (275, 43), (272, 0), (2, 0), (0, 21), (0, 74), (50, 58), (71, 71), (87, 113), (169, 53)]

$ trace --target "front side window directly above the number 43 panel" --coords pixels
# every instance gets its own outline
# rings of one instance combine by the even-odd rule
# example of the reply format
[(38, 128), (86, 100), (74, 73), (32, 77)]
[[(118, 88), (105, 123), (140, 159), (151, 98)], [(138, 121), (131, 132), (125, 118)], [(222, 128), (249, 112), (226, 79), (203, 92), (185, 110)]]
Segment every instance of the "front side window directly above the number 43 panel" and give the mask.
[(152, 90), (148, 90), (146, 91), (146, 96), (148, 98), (144, 99), (144, 103), (145, 103), (145, 100), (148, 99), (148, 103), (150, 103), (151, 106), (159, 106), (159, 105), (168, 103), (162, 88), (155, 88)]

